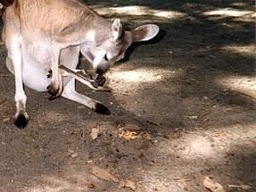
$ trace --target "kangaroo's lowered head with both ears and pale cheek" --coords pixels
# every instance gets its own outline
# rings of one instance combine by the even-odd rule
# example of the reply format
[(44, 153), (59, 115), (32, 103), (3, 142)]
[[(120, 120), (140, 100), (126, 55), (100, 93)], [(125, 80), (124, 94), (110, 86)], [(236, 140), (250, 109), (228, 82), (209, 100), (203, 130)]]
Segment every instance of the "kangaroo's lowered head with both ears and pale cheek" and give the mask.
[[(119, 19), (113, 20), (108, 37), (93, 49), (86, 49), (82, 54), (92, 63), (96, 73), (103, 74), (113, 63), (124, 58), (125, 51), (134, 42), (148, 41), (160, 31), (156, 25), (139, 26), (132, 31), (123, 30)], [(101, 37), (102, 38), (102, 37)]]

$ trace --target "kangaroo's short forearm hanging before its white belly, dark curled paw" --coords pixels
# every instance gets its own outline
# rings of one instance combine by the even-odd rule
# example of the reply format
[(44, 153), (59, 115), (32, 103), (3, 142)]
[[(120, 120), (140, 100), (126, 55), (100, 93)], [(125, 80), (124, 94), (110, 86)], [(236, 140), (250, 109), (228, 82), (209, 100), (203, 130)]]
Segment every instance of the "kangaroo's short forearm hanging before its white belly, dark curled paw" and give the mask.
[(63, 91), (63, 82), (61, 77), (61, 72), (59, 69), (59, 60), (60, 60), (61, 49), (52, 49), (51, 52), (51, 65), (50, 69), (52, 71), (51, 82), (47, 87), (49, 94), (52, 96), (50, 100), (55, 99), (58, 96), (61, 96)]

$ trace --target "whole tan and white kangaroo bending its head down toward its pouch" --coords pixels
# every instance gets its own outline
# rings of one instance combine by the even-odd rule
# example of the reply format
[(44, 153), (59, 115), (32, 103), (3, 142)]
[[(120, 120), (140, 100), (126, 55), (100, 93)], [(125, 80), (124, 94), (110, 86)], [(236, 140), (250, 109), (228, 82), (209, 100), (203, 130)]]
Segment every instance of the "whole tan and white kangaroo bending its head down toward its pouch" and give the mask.
[(15, 75), (14, 123), (19, 128), (29, 121), (23, 84), (109, 114), (101, 102), (75, 90), (75, 79), (101, 90), (93, 80), (78, 75), (79, 54), (102, 76), (133, 42), (148, 41), (160, 30), (149, 24), (125, 31), (119, 19), (104, 19), (81, 0), (15, 0), (3, 21), (6, 66)]

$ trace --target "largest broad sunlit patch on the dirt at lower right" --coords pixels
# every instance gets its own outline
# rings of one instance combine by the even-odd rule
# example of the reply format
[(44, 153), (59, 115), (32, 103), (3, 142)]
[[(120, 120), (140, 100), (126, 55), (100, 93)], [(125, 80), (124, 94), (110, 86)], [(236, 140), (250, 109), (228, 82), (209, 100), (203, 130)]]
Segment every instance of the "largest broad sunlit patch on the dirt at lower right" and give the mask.
[(241, 146), (253, 148), (253, 138), (256, 137), (254, 128), (255, 124), (235, 124), (212, 126), (198, 133), (186, 131), (176, 139), (158, 139), (147, 153), (155, 153), (155, 164), (162, 163), (162, 159), (166, 158), (172, 162), (175, 157), (191, 163), (198, 160), (218, 163), (224, 161), (230, 151), (240, 150)]

